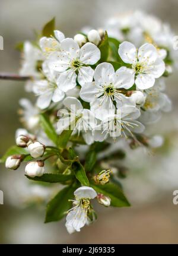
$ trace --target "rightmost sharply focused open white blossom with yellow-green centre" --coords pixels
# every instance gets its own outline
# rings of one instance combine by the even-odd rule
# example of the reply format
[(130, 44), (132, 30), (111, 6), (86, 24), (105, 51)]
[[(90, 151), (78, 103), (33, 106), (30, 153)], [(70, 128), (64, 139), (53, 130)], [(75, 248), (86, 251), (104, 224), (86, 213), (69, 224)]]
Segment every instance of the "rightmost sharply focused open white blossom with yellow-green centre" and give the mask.
[(125, 63), (132, 65), (130, 72), (135, 76), (137, 89), (154, 86), (155, 78), (161, 77), (165, 71), (164, 61), (150, 43), (145, 43), (137, 50), (132, 43), (123, 42), (119, 46), (119, 55)]

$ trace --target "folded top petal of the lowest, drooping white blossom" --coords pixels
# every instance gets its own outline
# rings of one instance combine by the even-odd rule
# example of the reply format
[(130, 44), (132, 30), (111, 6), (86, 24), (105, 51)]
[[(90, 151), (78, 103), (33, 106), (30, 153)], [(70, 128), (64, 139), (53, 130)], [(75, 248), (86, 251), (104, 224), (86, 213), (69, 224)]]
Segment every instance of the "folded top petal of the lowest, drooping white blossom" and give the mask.
[(74, 195), (78, 199), (81, 199), (81, 198), (93, 199), (93, 198), (97, 197), (96, 191), (93, 188), (87, 187), (87, 186), (77, 188), (74, 192)]

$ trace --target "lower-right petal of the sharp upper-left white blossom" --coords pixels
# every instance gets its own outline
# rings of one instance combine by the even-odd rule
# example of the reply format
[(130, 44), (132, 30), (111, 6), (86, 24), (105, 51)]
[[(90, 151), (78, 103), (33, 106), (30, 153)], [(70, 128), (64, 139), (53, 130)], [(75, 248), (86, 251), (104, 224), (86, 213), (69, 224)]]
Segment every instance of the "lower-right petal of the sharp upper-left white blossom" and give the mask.
[(81, 67), (78, 70), (78, 83), (81, 86), (84, 86), (85, 83), (89, 83), (93, 81), (94, 70), (91, 67)]

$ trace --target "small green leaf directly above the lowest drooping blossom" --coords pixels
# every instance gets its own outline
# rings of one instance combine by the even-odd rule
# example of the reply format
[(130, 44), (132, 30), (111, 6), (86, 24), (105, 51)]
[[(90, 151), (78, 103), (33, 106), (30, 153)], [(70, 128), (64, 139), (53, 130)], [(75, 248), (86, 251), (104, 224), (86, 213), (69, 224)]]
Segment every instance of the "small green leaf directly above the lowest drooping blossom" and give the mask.
[(81, 165), (80, 162), (75, 161), (74, 163), (72, 163), (71, 169), (74, 171), (75, 177), (78, 179), (78, 181), (80, 181), (81, 185), (90, 185), (84, 167)]

